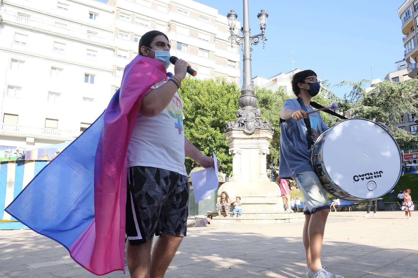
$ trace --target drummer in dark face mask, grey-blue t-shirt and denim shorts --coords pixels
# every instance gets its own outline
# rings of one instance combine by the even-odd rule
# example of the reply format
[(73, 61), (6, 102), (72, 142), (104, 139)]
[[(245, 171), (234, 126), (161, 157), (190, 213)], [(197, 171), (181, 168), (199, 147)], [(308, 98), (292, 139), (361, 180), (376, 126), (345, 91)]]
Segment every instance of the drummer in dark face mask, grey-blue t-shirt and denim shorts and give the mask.
[(324, 270), (321, 265), (329, 204), (328, 193), (311, 167), (311, 146), (328, 127), (310, 106), (311, 98), (319, 93), (320, 82), (314, 71), (303, 70), (293, 75), (292, 89), (298, 98), (286, 100), (280, 110), (279, 178), (293, 179), (303, 195), (305, 275), (307, 278), (344, 278)]

